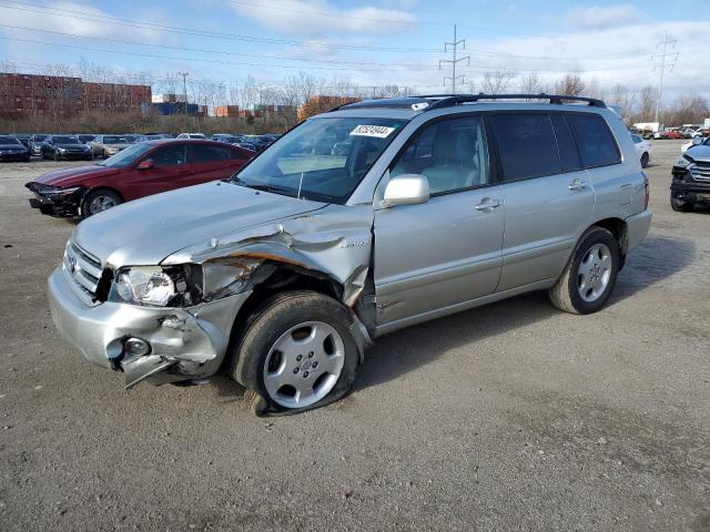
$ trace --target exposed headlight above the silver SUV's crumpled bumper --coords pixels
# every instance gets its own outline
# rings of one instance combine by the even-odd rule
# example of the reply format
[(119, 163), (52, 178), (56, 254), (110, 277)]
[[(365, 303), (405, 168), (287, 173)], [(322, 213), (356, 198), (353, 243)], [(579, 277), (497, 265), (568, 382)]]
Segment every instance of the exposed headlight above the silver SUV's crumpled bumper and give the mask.
[(149, 307), (191, 306), (201, 297), (201, 272), (195, 266), (133, 266), (120, 269), (109, 300)]

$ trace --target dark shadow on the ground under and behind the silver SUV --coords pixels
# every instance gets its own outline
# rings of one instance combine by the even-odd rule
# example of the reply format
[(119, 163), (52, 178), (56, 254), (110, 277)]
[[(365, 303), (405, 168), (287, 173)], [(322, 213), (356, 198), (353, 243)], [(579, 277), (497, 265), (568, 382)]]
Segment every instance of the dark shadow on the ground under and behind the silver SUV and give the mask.
[[(609, 305), (686, 269), (694, 253), (696, 246), (689, 239), (647, 237), (629, 256)], [(546, 293), (536, 291), (384, 336), (366, 354), (355, 381), (356, 389), (397, 379), (450, 349), (542, 323), (559, 313)]]

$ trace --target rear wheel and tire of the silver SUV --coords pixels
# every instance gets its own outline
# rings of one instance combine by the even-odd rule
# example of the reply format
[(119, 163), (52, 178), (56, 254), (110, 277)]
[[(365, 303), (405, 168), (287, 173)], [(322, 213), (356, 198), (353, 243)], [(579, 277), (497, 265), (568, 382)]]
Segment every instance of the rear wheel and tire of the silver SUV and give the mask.
[(570, 314), (591, 314), (601, 309), (616, 285), (620, 258), (615, 236), (604, 227), (590, 227), (550, 288), (550, 301)]

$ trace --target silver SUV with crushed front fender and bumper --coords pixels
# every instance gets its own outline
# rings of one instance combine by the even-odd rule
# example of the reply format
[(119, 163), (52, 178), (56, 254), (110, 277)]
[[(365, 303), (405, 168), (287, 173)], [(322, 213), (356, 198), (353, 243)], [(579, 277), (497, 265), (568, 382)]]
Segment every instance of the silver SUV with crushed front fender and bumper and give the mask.
[(364, 101), (230, 180), (83, 221), (49, 299), (126, 388), (224, 369), (256, 413), (293, 412), (346, 395), (393, 330), (530, 290), (599, 310), (650, 221), (629, 132), (601, 101)]

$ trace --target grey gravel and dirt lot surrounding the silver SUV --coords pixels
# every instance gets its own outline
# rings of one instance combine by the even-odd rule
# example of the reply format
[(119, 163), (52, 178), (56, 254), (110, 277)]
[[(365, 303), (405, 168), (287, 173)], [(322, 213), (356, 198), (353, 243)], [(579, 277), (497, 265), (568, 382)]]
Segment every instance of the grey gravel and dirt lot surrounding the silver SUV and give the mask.
[(710, 211), (668, 204), (608, 308), (545, 294), (383, 338), (357, 390), (258, 419), (226, 379), (141, 386), (84, 362), (44, 280), (73, 224), (0, 166), (0, 530), (710, 530)]

